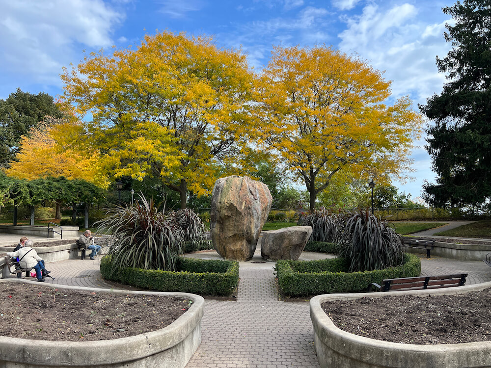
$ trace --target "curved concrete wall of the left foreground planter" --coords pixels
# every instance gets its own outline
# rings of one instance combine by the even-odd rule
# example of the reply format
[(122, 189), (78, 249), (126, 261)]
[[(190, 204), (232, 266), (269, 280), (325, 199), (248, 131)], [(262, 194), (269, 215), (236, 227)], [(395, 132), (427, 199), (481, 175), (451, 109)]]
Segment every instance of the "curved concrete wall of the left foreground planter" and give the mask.
[[(1, 280), (0, 282), (30, 282)], [(204, 299), (179, 292), (77, 288), (97, 292), (178, 296), (191, 299), (190, 309), (169, 326), (132, 337), (90, 342), (53, 342), (0, 336), (0, 367), (172, 367), (183, 368), (201, 343)]]

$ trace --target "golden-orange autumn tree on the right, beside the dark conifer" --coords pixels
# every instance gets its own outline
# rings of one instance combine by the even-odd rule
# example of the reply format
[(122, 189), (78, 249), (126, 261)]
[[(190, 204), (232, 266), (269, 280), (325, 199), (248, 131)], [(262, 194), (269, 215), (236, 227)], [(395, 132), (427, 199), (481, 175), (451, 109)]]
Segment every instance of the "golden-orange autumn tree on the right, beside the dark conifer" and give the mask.
[(326, 46), (275, 47), (261, 81), (260, 143), (305, 183), (311, 211), (334, 175), (386, 182), (410, 171), (422, 119), (408, 97), (387, 105), (390, 82), (365, 61)]

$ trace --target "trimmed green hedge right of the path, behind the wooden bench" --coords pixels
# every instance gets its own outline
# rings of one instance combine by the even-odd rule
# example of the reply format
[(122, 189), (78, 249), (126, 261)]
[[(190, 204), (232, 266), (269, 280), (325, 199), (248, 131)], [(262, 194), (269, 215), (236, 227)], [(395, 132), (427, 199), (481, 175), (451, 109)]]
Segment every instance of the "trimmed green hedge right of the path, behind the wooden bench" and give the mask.
[(320, 261), (280, 260), (275, 264), (278, 286), (284, 295), (310, 296), (340, 292), (365, 291), (370, 283), (383, 279), (419, 276), (421, 262), (413, 254), (404, 255), (399, 267), (364, 272), (344, 272), (343, 258)]

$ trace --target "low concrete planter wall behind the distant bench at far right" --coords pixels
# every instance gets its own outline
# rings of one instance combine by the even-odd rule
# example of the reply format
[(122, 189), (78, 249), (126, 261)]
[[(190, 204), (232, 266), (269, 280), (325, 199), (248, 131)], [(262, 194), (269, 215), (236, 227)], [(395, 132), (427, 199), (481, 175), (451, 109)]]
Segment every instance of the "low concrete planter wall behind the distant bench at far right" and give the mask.
[[(409, 253), (426, 254), (426, 250), (417, 248), (405, 248)], [(454, 244), (435, 242), (435, 246), (431, 251), (432, 256), (453, 258), (461, 261), (481, 261), (486, 259), (486, 254), (491, 253), (491, 243), (483, 244)]]

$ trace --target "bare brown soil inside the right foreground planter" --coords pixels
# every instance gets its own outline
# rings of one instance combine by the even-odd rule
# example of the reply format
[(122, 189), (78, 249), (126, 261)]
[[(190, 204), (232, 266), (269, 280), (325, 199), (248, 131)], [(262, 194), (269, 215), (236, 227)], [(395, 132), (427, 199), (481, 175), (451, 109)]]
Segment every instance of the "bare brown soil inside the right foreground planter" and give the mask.
[(411, 344), (491, 341), (491, 289), (460, 295), (363, 297), (322, 304), (336, 327)]

